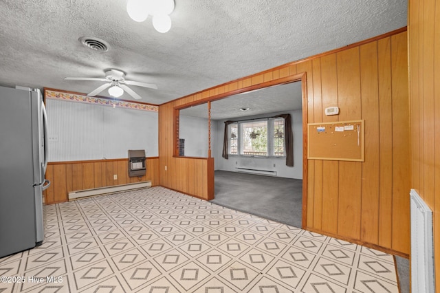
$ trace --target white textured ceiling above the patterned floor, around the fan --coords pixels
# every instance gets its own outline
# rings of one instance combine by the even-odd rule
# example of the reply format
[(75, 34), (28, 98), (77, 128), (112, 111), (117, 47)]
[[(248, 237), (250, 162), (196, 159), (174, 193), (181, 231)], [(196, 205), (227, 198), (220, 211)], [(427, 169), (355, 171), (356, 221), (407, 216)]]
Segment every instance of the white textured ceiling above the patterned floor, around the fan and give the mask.
[[(116, 68), (157, 84), (131, 88), (162, 104), (402, 28), (407, 1), (175, 0), (166, 34), (151, 17), (132, 21), (126, 0), (2, 0), (0, 12), (0, 85), (88, 93), (102, 83), (63, 78)], [(81, 36), (107, 41), (109, 52), (83, 47)]]

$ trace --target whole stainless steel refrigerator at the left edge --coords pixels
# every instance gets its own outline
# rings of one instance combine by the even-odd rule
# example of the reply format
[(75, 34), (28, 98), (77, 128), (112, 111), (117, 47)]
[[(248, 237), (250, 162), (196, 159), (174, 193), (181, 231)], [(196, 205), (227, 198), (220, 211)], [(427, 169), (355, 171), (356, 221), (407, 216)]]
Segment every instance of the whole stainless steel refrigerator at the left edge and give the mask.
[(45, 133), (41, 91), (0, 87), (0, 257), (43, 242)]

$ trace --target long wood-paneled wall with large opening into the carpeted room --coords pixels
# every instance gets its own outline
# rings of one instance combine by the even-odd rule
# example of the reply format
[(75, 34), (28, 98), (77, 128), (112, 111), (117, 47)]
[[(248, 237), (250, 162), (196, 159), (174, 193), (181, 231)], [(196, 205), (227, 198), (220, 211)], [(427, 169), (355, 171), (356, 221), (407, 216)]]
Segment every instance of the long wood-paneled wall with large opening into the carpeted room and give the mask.
[[(217, 99), (263, 83), (283, 83), (305, 73), (308, 122), (364, 119), (366, 140), (365, 162), (305, 161), (306, 228), (408, 256), (406, 57), (406, 28), (402, 28), (160, 105), (160, 185), (207, 199), (211, 184), (208, 173), (213, 170), (207, 169), (206, 160), (173, 157), (175, 107)], [(330, 106), (340, 107), (340, 115), (325, 116), (324, 110)]]

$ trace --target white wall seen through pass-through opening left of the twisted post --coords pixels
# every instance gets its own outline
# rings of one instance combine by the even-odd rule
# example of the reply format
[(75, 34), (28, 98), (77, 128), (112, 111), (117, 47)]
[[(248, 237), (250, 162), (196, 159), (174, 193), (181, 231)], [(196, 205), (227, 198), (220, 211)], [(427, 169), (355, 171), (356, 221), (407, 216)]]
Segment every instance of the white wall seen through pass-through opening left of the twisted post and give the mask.
[(208, 158), (208, 119), (180, 115), (179, 138), (185, 139), (185, 157)]

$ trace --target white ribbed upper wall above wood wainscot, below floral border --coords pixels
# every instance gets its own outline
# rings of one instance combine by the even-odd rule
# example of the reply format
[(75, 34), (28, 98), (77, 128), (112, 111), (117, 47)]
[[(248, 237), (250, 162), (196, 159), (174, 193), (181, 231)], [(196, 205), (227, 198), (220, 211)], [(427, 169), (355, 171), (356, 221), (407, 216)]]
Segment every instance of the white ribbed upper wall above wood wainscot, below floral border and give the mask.
[(158, 114), (63, 100), (45, 101), (49, 162), (128, 158), (129, 149), (159, 154)]

